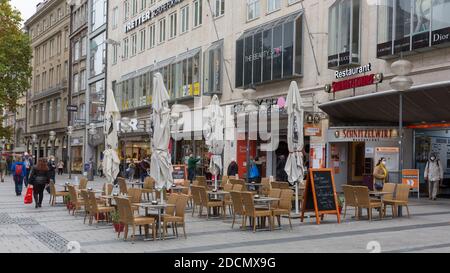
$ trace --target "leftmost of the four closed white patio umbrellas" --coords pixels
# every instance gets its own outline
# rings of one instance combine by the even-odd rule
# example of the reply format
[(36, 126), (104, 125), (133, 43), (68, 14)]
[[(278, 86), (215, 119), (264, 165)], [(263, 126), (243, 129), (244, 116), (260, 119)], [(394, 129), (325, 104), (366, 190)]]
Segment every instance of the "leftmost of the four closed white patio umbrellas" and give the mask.
[(104, 135), (105, 151), (103, 152), (103, 173), (108, 183), (113, 183), (119, 174), (120, 160), (117, 155), (119, 139), (117, 136), (118, 124), (120, 120), (120, 111), (117, 107), (114, 93), (108, 90), (105, 107)]

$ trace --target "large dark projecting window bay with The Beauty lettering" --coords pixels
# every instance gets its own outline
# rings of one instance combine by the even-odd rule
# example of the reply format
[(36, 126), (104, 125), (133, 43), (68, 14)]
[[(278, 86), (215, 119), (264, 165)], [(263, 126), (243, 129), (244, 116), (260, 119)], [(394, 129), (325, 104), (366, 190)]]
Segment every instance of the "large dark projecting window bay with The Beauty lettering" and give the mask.
[(301, 21), (301, 13), (291, 14), (250, 29), (236, 41), (237, 88), (301, 74)]

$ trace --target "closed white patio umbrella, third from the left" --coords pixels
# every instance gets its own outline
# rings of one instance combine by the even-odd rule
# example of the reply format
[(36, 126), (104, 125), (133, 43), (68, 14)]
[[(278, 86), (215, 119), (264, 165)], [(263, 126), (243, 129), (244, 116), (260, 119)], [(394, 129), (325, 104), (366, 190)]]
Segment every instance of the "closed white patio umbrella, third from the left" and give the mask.
[(217, 95), (213, 96), (211, 103), (208, 106), (207, 114), (208, 121), (205, 126), (205, 139), (209, 152), (212, 154), (209, 163), (209, 171), (214, 175), (215, 188), (217, 189), (217, 176), (222, 171), (222, 153), (224, 147), (224, 116)]

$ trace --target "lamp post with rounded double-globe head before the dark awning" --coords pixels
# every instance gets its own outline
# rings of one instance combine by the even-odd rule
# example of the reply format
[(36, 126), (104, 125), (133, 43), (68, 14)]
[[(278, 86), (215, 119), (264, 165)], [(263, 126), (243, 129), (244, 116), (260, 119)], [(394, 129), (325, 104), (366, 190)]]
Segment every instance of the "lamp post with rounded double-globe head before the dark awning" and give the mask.
[[(403, 172), (403, 92), (409, 90), (413, 85), (413, 80), (408, 77), (408, 74), (411, 72), (413, 65), (410, 61), (407, 60), (398, 60), (391, 65), (391, 70), (396, 77), (394, 77), (390, 86), (398, 91), (399, 94), (399, 125), (398, 125), (398, 135), (399, 135), (399, 181), (398, 183), (402, 183), (402, 172)], [(399, 207), (399, 215), (401, 215), (401, 207)]]

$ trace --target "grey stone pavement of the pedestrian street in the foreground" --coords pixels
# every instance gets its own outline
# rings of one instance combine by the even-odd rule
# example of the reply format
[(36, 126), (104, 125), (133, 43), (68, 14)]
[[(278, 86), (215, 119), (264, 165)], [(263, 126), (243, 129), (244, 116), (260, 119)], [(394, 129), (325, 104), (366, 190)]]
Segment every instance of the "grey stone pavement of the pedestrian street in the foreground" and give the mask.
[[(67, 175), (57, 177), (57, 183), (64, 181)], [(89, 185), (100, 189), (103, 182), (96, 177)], [(66, 252), (70, 241), (78, 242), (81, 252), (369, 252), (371, 241), (378, 242), (382, 252), (450, 252), (450, 200), (445, 199), (411, 198), (411, 218), (388, 216), (379, 221), (375, 214), (372, 222), (356, 221), (350, 210), (341, 224), (333, 216), (326, 216), (321, 225), (313, 218), (305, 223), (293, 219), (290, 230), (287, 219), (282, 219), (281, 230), (256, 233), (231, 229), (230, 218), (191, 217), (189, 209), (187, 239), (138, 237), (131, 243), (118, 239), (109, 224), (83, 224), (81, 213), (69, 215), (63, 204), (50, 207), (46, 192), (39, 209), (24, 205), (24, 194), (25, 190), (21, 197), (15, 195), (10, 176), (0, 183), (0, 252)]]

